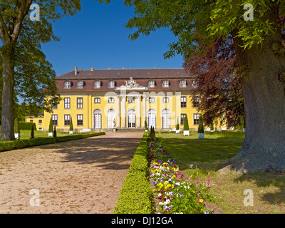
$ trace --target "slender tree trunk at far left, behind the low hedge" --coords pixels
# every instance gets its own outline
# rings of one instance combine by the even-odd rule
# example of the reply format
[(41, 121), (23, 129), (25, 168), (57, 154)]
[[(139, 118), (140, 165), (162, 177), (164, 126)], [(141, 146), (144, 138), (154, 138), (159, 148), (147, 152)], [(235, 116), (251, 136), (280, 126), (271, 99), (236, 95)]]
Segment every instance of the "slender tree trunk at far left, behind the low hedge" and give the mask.
[(1, 138), (15, 140), (14, 135), (14, 59), (12, 51), (1, 53), (3, 66)]

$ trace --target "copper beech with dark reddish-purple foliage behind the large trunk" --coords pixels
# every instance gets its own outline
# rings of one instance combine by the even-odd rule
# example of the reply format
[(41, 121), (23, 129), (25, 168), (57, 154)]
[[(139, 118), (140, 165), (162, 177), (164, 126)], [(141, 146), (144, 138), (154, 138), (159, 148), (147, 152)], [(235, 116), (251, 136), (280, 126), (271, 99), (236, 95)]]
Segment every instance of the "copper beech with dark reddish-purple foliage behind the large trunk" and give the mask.
[(192, 101), (199, 98), (198, 110), (205, 125), (215, 123), (219, 127), (218, 120), (228, 128), (243, 125), (244, 99), (232, 36), (226, 41), (218, 38), (206, 53), (197, 53), (183, 67), (196, 76)]

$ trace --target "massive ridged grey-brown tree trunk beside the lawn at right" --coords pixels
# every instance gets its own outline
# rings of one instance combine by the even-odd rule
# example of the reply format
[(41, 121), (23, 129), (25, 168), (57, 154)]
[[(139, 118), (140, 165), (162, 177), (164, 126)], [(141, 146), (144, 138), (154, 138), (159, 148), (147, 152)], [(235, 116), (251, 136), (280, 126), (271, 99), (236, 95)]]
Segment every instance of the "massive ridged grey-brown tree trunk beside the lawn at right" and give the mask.
[[(272, 15), (276, 20), (278, 14)], [(276, 23), (276, 21), (274, 21)], [(239, 172), (285, 171), (285, 56), (281, 30), (245, 51), (234, 38), (242, 73), (246, 135), (227, 168)]]

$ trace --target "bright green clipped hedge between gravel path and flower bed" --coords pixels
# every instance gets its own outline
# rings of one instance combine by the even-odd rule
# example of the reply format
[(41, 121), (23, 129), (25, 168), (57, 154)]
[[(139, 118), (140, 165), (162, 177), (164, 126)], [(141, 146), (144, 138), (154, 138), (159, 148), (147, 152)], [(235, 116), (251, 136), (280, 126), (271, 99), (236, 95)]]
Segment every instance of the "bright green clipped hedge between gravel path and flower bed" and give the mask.
[(145, 133), (135, 151), (114, 214), (152, 214), (154, 212), (148, 167), (148, 146)]

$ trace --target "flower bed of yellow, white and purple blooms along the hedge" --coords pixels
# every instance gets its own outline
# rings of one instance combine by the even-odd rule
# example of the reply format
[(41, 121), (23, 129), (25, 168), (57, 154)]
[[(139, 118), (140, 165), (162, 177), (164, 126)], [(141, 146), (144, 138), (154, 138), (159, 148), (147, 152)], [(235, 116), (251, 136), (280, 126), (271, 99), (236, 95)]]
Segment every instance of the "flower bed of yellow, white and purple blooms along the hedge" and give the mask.
[(165, 152), (161, 142), (148, 142), (150, 152), (150, 177), (154, 195), (158, 200), (160, 213), (208, 214), (204, 200), (210, 200), (207, 193), (211, 187), (209, 175), (205, 183), (186, 180), (175, 160)]

